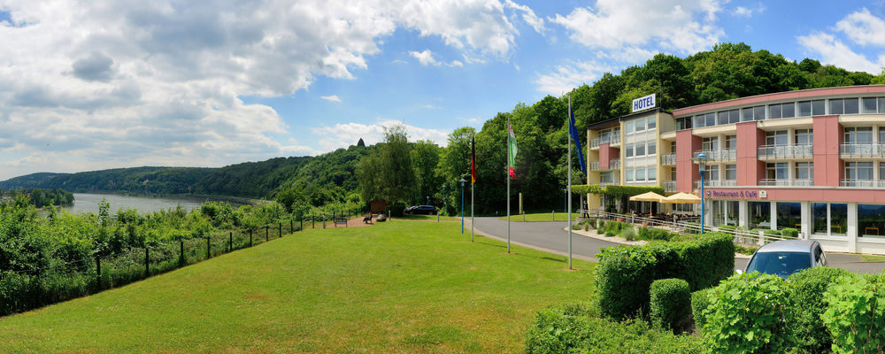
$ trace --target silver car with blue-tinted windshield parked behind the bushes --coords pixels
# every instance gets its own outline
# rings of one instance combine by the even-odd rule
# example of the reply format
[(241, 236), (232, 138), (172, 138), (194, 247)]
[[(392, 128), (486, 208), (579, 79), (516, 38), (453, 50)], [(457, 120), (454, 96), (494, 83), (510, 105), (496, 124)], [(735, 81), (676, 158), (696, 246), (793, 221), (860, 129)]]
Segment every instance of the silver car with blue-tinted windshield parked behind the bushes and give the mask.
[(787, 240), (760, 247), (753, 253), (745, 272), (758, 271), (786, 279), (789, 274), (799, 273), (812, 266), (827, 266), (827, 255), (820, 247), (820, 242)]

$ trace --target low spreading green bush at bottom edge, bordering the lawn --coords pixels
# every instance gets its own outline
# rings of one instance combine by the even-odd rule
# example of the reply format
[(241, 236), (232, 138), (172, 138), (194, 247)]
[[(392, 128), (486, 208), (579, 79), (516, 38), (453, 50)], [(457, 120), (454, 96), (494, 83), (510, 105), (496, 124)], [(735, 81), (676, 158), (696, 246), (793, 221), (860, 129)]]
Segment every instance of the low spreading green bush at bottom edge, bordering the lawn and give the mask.
[(644, 321), (600, 318), (589, 305), (557, 305), (535, 316), (526, 352), (548, 353), (702, 353), (690, 335), (673, 335)]

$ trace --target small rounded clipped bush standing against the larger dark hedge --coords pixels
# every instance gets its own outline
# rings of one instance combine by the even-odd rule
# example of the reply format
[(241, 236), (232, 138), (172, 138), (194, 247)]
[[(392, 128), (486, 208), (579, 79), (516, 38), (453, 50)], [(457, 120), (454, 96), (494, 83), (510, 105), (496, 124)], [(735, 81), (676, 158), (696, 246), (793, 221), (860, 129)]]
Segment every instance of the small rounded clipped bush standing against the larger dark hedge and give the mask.
[(651, 282), (649, 317), (657, 327), (679, 334), (686, 326), (691, 310), (689, 283), (681, 279), (660, 279)]

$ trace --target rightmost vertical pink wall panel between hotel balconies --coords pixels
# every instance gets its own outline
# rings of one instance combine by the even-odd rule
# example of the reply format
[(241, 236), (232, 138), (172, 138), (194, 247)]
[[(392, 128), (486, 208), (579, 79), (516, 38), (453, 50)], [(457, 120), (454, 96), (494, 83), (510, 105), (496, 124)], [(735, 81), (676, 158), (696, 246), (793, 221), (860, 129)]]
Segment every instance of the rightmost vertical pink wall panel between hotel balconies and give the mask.
[(842, 125), (838, 116), (814, 117), (814, 185), (839, 187), (845, 169), (839, 158), (843, 142)]

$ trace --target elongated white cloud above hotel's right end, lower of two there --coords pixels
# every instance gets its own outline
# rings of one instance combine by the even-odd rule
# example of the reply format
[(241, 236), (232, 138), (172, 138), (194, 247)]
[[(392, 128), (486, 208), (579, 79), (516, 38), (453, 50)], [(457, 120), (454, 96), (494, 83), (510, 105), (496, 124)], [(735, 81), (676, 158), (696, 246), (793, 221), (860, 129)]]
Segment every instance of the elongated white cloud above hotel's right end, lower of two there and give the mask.
[(850, 71), (873, 74), (881, 72), (882, 58), (878, 64), (873, 63), (865, 56), (855, 53), (842, 41), (836, 39), (834, 35), (817, 32), (811, 35), (801, 35), (797, 40), (805, 50), (816, 52), (820, 56), (820, 61), (825, 64), (836, 65)]

